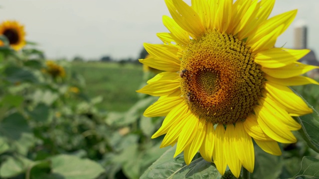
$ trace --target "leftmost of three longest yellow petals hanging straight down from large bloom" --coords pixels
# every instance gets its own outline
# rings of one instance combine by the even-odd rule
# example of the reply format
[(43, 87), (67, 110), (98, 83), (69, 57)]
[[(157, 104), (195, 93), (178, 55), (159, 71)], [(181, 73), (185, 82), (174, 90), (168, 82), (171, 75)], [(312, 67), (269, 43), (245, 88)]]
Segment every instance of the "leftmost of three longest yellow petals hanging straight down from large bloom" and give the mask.
[(215, 146), (213, 150), (213, 160), (216, 165), (218, 172), (221, 175), (224, 175), (227, 162), (224, 155), (224, 141), (225, 141), (225, 129), (222, 124), (218, 124), (215, 130)]

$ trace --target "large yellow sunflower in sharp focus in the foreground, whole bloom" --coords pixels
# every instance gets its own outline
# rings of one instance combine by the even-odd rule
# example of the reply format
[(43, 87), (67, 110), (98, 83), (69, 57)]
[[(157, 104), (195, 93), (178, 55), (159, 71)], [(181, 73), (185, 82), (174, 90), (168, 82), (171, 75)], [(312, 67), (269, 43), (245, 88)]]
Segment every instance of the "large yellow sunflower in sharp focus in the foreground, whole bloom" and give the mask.
[(297, 10), (268, 18), (275, 0), (165, 0), (172, 18), (163, 44), (144, 47), (140, 62), (163, 70), (138, 90), (159, 100), (147, 117), (166, 116), (152, 136), (166, 134), (161, 147), (177, 143), (188, 165), (197, 151), (239, 177), (254, 170), (253, 140), (265, 152), (281, 155), (280, 143), (294, 143), (300, 124), (292, 116), (311, 113), (288, 86), (318, 84), (301, 76), (318, 68), (297, 62), (310, 50), (275, 48), (277, 37)]

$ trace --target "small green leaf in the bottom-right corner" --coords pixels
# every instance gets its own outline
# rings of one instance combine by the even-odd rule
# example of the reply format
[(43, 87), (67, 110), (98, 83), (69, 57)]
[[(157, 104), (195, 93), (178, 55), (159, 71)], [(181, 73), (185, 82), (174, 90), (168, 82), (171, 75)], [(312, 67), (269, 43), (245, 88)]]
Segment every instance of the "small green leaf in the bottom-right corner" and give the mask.
[(319, 179), (319, 160), (313, 157), (304, 157), (301, 170), (293, 179)]

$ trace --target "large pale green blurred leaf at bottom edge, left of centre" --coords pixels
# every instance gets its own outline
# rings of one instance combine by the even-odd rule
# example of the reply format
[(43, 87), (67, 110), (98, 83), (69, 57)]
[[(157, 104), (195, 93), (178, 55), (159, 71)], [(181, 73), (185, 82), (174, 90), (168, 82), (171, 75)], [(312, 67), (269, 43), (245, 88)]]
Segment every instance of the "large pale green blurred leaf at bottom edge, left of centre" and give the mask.
[(71, 155), (57, 155), (51, 158), (52, 173), (63, 179), (94, 179), (104, 172), (104, 168), (89, 159)]

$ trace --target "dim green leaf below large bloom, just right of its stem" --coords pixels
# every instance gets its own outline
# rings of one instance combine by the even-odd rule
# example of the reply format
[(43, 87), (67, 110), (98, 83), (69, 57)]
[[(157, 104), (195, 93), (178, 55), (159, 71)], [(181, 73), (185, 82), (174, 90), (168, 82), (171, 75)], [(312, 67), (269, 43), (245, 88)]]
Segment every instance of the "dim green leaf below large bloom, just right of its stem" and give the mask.
[(274, 156), (264, 152), (255, 145), (255, 169), (253, 179), (278, 179), (282, 172), (283, 160), (281, 156)]

